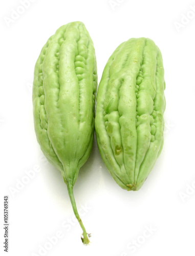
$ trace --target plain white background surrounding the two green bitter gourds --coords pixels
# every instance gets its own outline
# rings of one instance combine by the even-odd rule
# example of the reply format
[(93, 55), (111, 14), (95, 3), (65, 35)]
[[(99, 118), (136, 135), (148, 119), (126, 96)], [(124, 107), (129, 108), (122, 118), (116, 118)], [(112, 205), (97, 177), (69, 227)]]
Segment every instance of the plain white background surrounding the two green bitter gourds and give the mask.
[[(12, 9), (21, 4), (1, 1), (1, 254), (3, 197), (9, 195), (11, 256), (194, 255), (195, 193), (190, 186), (195, 188), (195, 2), (118, 0), (114, 4), (117, 0), (113, 5), (109, 0), (36, 0), (6, 23), (5, 17), (11, 18)], [(189, 12), (190, 5), (194, 11)], [(62, 226), (73, 218), (67, 187), (40, 151), (32, 115), (31, 85), (40, 50), (56, 29), (76, 20), (85, 24), (94, 41), (98, 81), (107, 59), (131, 37), (155, 41), (163, 55), (166, 80), (164, 147), (143, 187), (120, 188), (105, 168), (96, 142), (80, 169), (74, 194), (78, 209), (88, 207), (82, 210), (82, 221), (92, 234), (89, 246), (82, 245), (77, 222)], [(177, 29), (176, 22), (182, 27)], [(18, 181), (36, 166), (39, 172), (34, 178), (13, 193)], [(147, 228), (152, 231), (144, 238)], [(40, 248), (50, 247), (49, 238), (59, 231), (61, 238), (41, 254)]]

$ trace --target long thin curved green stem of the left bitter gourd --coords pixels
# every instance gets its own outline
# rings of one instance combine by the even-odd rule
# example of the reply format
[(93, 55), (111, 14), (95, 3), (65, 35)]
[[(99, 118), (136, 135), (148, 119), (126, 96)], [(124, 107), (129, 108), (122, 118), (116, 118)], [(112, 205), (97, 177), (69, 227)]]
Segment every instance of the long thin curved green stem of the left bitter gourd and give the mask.
[(73, 207), (73, 211), (74, 211), (74, 214), (75, 214), (75, 217), (77, 218), (82, 230), (83, 230), (83, 238), (81, 237), (81, 240), (83, 242), (83, 244), (89, 244), (90, 243), (90, 240), (88, 238), (88, 233), (86, 233), (86, 230), (85, 230), (85, 227), (81, 221), (81, 218), (78, 214), (78, 211), (77, 211), (77, 207), (76, 207), (76, 203), (75, 203), (75, 198), (74, 198), (74, 194), (73, 194), (73, 184), (71, 184), (70, 182), (67, 183), (67, 187), (68, 187), (68, 192), (69, 192), (69, 197), (70, 197), (70, 200), (71, 200), (71, 204), (72, 204), (72, 207)]

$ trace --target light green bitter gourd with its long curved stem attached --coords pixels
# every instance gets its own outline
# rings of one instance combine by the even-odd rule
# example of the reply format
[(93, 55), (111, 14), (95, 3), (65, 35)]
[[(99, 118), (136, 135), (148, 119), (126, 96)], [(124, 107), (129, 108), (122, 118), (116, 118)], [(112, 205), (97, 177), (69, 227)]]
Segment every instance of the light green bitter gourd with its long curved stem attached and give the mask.
[(94, 137), (97, 67), (93, 41), (81, 22), (60, 27), (42, 48), (34, 70), (33, 114), (37, 141), (68, 186), (88, 159)]

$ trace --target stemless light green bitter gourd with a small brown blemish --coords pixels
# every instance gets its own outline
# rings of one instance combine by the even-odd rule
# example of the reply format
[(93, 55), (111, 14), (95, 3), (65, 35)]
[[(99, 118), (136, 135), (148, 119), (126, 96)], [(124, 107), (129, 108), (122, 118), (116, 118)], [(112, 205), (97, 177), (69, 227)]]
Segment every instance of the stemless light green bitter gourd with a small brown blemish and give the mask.
[(106, 63), (97, 92), (96, 138), (115, 181), (138, 190), (163, 146), (163, 60), (148, 38), (123, 42)]

